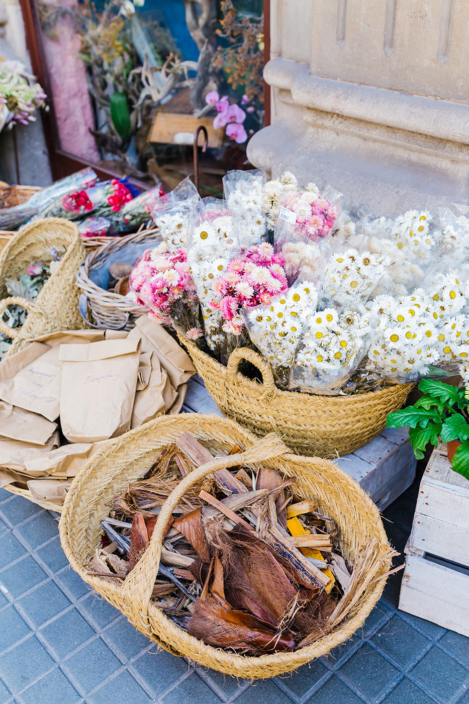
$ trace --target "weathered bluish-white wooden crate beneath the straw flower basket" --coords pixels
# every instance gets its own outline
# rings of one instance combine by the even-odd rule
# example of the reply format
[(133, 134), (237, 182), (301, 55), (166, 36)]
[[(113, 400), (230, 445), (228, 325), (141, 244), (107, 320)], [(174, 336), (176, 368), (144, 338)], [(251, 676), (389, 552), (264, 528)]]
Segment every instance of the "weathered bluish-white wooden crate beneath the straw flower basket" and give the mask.
[[(223, 415), (197, 375), (190, 379), (182, 410)], [(335, 460), (356, 479), (380, 510), (392, 503), (415, 478), (416, 460), (406, 429), (386, 428), (368, 445)]]

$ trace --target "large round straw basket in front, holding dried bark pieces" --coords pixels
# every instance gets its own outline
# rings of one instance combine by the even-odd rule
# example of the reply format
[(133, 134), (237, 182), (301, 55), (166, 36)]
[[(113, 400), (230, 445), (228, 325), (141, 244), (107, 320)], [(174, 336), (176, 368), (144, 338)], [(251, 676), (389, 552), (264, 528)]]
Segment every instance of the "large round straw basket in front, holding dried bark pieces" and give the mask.
[[(182, 479), (161, 508), (149, 548), (124, 582), (88, 574), (89, 562), (101, 544), (100, 522), (108, 516), (114, 495), (142, 477), (163, 446), (185, 431), (225, 456)], [(226, 456), (235, 444), (244, 446), (244, 454)], [(363, 567), (360, 572), (363, 579), (352, 576), (348, 598), (343, 600), (347, 605), (332, 615), (333, 621), (325, 628), (325, 635), (292, 653), (248, 657), (207, 646), (177, 627), (158, 608), (158, 601), (150, 598), (165, 527), (180, 497), (211, 472), (241, 463), (262, 463), (285, 477), (295, 477), (295, 494), (304, 499), (315, 498), (319, 510), (323, 509), (337, 521), (342, 551), (346, 559), (354, 562), (354, 575), (359, 564)], [(389, 548), (380, 514), (368, 494), (330, 460), (293, 455), (273, 434), (259, 440), (226, 418), (195, 413), (162, 416), (107, 444), (75, 477), (65, 498), (59, 529), (65, 555), (73, 569), (149, 639), (170, 653), (192, 658), (214, 670), (256, 679), (295, 670), (354, 634), (380, 598), (395, 554)]]

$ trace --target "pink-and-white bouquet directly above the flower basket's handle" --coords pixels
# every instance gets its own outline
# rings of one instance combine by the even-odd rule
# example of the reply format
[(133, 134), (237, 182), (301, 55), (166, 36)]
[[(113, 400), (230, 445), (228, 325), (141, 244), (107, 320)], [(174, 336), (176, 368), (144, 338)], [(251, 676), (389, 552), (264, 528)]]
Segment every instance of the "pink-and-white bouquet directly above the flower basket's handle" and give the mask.
[(287, 291), (282, 261), (271, 244), (262, 242), (230, 260), (226, 270), (213, 279), (211, 306), (220, 311), (223, 320), (220, 334), (225, 335), (220, 351), (223, 364), (233, 349), (250, 346), (243, 312), (259, 303), (270, 303)]

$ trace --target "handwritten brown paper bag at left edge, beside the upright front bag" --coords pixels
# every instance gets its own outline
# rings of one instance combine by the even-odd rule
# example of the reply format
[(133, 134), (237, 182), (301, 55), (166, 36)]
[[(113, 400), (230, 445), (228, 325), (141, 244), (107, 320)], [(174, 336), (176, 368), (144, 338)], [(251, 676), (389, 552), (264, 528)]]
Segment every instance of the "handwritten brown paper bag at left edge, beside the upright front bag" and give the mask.
[(57, 347), (43, 348), (44, 354), (0, 382), (0, 398), (48, 420), (56, 420), (60, 408), (61, 363)]

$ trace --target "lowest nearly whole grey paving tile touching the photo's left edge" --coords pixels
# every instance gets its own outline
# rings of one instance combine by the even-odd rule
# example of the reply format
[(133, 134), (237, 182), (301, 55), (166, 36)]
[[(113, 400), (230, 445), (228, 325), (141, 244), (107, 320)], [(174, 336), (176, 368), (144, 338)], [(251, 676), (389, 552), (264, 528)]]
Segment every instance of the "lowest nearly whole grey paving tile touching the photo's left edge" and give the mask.
[(18, 694), (54, 665), (44, 646), (32, 636), (1, 655), (0, 676), (13, 694)]

